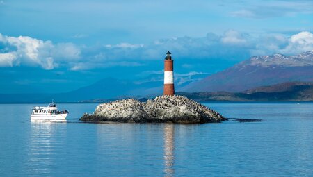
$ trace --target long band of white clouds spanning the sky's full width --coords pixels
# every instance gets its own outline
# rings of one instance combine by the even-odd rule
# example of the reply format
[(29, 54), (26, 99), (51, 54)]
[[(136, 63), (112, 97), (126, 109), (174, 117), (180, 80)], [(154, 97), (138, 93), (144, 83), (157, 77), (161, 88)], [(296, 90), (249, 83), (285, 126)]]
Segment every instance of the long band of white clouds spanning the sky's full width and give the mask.
[(0, 35), (0, 67), (26, 65), (43, 69), (65, 67), (72, 71), (108, 67), (139, 67), (163, 60), (166, 51), (174, 60), (184, 60), (182, 67), (191, 69), (209, 60), (240, 62), (256, 55), (273, 53), (298, 54), (313, 50), (313, 34), (302, 31), (294, 35), (280, 33), (249, 34), (225, 31), (223, 35), (208, 33), (204, 37), (171, 37), (147, 44), (98, 44), (77, 46), (73, 43), (57, 43), (31, 37)]

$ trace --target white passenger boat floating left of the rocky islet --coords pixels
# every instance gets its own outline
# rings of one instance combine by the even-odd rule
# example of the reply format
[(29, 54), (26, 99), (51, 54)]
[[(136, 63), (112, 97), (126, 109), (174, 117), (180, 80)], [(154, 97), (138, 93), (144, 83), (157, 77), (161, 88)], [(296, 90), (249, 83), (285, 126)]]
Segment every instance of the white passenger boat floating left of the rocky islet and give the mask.
[(63, 121), (68, 115), (67, 110), (58, 110), (56, 103), (49, 103), (47, 107), (35, 106), (31, 112), (32, 120)]

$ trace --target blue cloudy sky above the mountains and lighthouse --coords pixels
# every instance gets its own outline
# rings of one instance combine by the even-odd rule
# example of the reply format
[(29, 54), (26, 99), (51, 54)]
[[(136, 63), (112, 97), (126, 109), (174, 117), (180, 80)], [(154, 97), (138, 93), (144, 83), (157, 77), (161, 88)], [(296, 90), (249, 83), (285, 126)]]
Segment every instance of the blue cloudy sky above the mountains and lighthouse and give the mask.
[(313, 50), (313, 1), (0, 0), (0, 93), (102, 78), (209, 76), (251, 56)]

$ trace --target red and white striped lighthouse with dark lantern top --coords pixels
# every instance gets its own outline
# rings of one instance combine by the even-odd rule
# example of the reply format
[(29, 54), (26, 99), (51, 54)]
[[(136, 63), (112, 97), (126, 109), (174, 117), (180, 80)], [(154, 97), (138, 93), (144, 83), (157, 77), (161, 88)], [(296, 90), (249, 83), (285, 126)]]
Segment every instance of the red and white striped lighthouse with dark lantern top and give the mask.
[(173, 74), (173, 60), (170, 56), (170, 51), (166, 53), (166, 58), (164, 60), (164, 92), (163, 95), (174, 95), (174, 74)]

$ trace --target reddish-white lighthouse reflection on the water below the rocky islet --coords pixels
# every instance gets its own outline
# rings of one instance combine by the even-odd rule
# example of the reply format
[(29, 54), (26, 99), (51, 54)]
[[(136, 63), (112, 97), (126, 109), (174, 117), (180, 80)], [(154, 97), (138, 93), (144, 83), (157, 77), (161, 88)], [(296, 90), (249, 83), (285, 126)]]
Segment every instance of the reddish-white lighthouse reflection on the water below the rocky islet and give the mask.
[(164, 172), (165, 176), (173, 176), (174, 168), (174, 125), (164, 126)]

